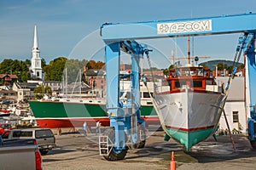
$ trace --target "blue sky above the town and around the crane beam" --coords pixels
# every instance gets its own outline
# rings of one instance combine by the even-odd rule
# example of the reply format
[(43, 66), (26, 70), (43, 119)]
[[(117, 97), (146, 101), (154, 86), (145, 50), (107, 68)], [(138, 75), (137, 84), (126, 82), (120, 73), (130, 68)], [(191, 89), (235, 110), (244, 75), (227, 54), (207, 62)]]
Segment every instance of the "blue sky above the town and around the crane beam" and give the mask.
[[(40, 56), (47, 62), (60, 56), (90, 59), (92, 54), (102, 55), (99, 51), (103, 43), (97, 30), (106, 22), (255, 13), (255, 7), (255, 0), (0, 0), (0, 61), (31, 59), (35, 25)], [(233, 59), (238, 36), (195, 37), (193, 53)], [(170, 55), (171, 48), (180, 51), (178, 57), (187, 54), (186, 38), (172, 38), (180, 50), (158, 41)]]

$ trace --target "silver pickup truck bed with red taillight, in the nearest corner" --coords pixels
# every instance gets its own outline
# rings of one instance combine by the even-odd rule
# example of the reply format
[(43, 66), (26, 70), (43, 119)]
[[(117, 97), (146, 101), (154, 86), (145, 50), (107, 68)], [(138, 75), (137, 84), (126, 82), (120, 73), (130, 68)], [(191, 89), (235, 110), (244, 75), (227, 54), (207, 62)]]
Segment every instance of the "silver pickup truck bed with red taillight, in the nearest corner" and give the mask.
[(35, 139), (11, 139), (0, 136), (0, 169), (42, 170), (42, 156)]

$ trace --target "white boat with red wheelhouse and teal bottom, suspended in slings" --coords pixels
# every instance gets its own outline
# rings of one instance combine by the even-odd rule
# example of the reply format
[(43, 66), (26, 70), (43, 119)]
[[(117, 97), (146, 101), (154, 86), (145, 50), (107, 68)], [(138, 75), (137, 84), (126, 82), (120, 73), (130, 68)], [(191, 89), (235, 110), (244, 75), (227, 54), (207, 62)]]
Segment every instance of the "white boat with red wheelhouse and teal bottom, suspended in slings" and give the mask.
[(224, 89), (201, 66), (177, 67), (169, 71), (166, 81), (169, 90), (154, 95), (160, 122), (169, 137), (190, 150), (215, 132)]

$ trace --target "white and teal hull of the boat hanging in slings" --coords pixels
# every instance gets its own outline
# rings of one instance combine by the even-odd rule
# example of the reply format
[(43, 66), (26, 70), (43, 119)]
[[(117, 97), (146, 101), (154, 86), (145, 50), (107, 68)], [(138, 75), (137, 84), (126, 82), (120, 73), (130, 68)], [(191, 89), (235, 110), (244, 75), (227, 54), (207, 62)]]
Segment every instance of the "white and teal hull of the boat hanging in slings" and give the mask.
[(224, 94), (189, 91), (154, 96), (166, 133), (187, 150), (215, 132)]

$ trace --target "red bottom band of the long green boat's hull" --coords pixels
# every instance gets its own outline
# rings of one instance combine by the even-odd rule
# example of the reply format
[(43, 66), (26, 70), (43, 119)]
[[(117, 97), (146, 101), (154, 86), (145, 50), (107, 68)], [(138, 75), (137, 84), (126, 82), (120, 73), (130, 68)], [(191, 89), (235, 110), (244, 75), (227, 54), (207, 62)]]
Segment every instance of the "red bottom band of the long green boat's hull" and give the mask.
[[(160, 125), (158, 117), (143, 117), (146, 124)], [(83, 127), (83, 123), (87, 122), (89, 127), (95, 127), (96, 121), (102, 122), (102, 126), (109, 126), (108, 118), (78, 118), (78, 119), (37, 119), (38, 126), (43, 128), (60, 128), (60, 127)]]

